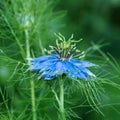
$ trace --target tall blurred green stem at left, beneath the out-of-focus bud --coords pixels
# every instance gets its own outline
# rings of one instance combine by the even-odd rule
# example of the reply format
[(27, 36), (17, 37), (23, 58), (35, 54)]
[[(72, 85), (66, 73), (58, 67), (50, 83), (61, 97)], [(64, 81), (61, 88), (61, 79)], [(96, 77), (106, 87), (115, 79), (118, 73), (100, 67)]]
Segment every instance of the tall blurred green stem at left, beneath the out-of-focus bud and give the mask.
[[(26, 36), (26, 56), (27, 58), (30, 58), (30, 42), (29, 42), (28, 30), (25, 30), (25, 36)], [(30, 65), (30, 61), (28, 61), (28, 64)], [(34, 80), (32, 78), (30, 80), (30, 85), (31, 85), (31, 104), (32, 104), (33, 120), (37, 120), (36, 109), (35, 109), (35, 86), (34, 86)]]

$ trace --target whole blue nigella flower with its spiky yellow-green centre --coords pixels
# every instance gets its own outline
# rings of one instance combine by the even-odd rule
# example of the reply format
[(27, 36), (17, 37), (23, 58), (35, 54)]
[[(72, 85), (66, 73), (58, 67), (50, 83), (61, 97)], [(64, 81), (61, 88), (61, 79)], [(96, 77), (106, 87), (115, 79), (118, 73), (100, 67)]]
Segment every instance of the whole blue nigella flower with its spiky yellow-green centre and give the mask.
[(76, 59), (84, 56), (83, 52), (76, 49), (76, 42), (79, 41), (72, 40), (73, 36), (67, 41), (61, 34), (57, 37), (61, 42), (56, 40), (57, 47), (50, 46), (51, 51), (49, 51), (55, 54), (31, 58), (29, 69), (38, 72), (40, 78), (45, 80), (52, 80), (62, 74), (73, 80), (95, 77), (88, 70), (88, 67), (96, 66), (95, 64)]

